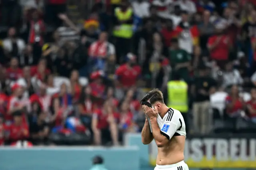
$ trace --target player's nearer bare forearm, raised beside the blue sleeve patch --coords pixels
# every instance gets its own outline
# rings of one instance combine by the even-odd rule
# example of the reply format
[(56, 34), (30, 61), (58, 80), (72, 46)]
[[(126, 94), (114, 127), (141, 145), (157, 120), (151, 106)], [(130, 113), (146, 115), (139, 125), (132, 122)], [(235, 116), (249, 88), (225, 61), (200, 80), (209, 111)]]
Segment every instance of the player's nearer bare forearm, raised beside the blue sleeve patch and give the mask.
[[(153, 118), (153, 119), (150, 119), (150, 123), (151, 123), (151, 127), (152, 127), (152, 133), (153, 133), (153, 136), (154, 136), (154, 139), (156, 141), (156, 144), (158, 145), (162, 145), (163, 143), (166, 142), (166, 137), (164, 135), (162, 135), (160, 132), (160, 128), (157, 124), (157, 121), (156, 121), (156, 117)], [(168, 141), (168, 140), (167, 140)]]

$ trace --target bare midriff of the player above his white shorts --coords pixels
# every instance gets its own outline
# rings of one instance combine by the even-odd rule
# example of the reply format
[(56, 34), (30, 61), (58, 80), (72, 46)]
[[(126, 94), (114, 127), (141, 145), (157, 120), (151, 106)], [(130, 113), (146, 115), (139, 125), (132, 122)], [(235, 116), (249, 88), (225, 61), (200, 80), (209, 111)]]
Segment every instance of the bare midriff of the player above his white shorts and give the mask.
[(185, 136), (173, 136), (162, 148), (158, 148), (157, 165), (171, 165), (184, 160)]

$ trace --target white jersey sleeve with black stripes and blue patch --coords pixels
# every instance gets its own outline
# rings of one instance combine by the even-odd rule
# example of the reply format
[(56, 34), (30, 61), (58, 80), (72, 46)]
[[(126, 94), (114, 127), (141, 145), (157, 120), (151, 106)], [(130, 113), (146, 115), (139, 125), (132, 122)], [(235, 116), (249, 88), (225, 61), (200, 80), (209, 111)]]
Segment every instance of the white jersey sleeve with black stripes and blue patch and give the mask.
[(162, 135), (166, 136), (166, 138), (170, 140), (180, 126), (179, 118), (176, 116), (174, 111), (170, 109), (169, 115), (166, 117), (160, 131)]

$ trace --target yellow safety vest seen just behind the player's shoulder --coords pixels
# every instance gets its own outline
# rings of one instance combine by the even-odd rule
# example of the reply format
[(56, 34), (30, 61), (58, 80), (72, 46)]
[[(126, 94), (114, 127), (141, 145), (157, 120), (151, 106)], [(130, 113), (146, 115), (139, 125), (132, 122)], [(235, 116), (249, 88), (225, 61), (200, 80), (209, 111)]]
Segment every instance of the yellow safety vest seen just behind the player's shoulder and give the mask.
[(177, 109), (180, 112), (188, 111), (188, 85), (185, 81), (169, 81), (168, 90), (168, 107)]

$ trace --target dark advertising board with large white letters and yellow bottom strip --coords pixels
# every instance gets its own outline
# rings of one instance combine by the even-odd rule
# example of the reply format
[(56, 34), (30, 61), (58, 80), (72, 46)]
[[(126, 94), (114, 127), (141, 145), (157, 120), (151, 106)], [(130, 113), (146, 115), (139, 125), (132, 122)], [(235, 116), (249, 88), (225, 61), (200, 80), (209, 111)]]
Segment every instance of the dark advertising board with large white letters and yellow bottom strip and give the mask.
[[(250, 135), (249, 135), (250, 136)], [(189, 168), (256, 168), (256, 136), (190, 136), (184, 148)], [(157, 146), (150, 144), (150, 164)]]

